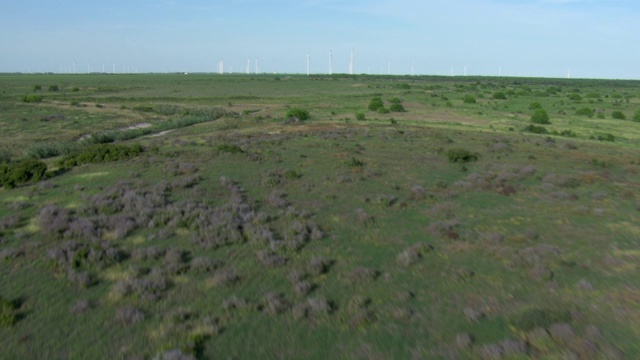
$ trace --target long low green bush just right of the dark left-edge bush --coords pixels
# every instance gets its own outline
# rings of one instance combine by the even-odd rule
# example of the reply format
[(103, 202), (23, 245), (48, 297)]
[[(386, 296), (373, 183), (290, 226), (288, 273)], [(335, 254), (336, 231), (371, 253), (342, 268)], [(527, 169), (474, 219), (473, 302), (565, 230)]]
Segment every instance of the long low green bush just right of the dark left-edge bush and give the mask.
[(126, 160), (138, 156), (143, 151), (142, 146), (98, 144), (89, 145), (71, 152), (59, 161), (63, 167), (73, 167), (82, 164), (95, 164)]

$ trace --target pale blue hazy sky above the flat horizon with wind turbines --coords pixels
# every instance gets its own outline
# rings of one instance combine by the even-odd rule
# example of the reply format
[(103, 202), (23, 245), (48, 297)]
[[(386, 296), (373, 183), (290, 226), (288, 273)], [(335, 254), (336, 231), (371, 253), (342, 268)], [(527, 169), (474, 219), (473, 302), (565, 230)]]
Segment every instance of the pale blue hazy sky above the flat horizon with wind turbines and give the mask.
[(0, 0), (0, 72), (640, 79), (639, 36), (638, 0)]

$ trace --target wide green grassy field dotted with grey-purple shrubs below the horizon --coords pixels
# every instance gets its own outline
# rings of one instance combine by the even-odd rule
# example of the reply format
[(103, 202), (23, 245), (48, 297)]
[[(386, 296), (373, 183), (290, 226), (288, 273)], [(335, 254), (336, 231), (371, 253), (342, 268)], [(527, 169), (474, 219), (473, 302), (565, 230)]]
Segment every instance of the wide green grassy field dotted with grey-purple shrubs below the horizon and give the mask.
[(638, 81), (0, 75), (0, 357), (638, 358), (639, 111)]

